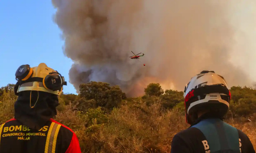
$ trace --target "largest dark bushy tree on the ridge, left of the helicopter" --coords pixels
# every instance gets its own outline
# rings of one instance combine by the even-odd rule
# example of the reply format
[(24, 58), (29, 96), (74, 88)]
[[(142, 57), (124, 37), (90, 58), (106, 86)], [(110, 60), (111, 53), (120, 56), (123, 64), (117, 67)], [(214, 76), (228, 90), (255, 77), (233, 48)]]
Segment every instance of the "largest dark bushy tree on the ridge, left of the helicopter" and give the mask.
[[(109, 83), (91, 81), (80, 85), (79, 97), (87, 101), (94, 100), (96, 107), (102, 107), (102, 109), (109, 111), (117, 107), (122, 99), (126, 98), (126, 95), (119, 86), (110, 87)], [(90, 104), (94, 101), (90, 101)], [(94, 104), (92, 105), (94, 106)]]

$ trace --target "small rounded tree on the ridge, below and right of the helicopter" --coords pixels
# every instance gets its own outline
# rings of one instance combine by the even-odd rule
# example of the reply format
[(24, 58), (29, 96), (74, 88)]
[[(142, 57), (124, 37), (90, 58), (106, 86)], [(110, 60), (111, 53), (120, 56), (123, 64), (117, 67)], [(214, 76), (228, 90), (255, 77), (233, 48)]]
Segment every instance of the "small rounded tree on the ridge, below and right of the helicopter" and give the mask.
[(159, 83), (149, 83), (147, 88), (144, 89), (144, 92), (149, 96), (160, 96), (164, 93)]

